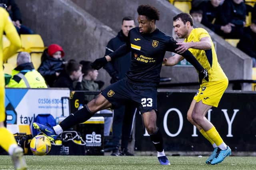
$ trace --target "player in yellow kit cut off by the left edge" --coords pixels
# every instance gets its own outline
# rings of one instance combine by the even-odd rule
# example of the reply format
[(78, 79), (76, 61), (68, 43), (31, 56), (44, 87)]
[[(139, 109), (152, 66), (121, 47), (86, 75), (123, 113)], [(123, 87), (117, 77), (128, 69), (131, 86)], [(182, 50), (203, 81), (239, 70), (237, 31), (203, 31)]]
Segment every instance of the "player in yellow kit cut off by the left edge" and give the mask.
[[(10, 40), (10, 46), (7, 50), (2, 50), (2, 38), (5, 32), (6, 37)], [(5, 108), (4, 108), (4, 71), (3, 61), (6, 61), (8, 57), (12, 56), (21, 47), (20, 37), (12, 24), (12, 20), (9, 17), (8, 12), (0, 7), (0, 146), (6, 150), (14, 163), (15, 169), (25, 170), (27, 169), (25, 158), (23, 155), (23, 149), (17, 145), (17, 142), (13, 134), (4, 127), (5, 120)]]

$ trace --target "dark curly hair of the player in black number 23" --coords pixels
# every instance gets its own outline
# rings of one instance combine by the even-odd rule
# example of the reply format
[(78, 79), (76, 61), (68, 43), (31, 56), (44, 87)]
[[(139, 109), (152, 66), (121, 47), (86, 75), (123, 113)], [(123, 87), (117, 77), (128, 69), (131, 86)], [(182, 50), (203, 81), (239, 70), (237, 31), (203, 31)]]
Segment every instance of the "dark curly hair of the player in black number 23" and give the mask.
[(160, 13), (154, 6), (140, 5), (138, 6), (137, 12), (139, 15), (144, 15), (150, 20), (160, 19)]

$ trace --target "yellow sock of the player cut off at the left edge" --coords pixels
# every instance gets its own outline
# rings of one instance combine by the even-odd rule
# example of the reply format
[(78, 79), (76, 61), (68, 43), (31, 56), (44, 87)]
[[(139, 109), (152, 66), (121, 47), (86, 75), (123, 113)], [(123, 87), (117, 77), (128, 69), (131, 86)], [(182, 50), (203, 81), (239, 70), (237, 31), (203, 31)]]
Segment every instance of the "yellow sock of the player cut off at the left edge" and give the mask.
[(14, 144), (17, 145), (17, 142), (13, 134), (5, 127), (0, 128), (0, 146), (9, 152), (9, 147)]

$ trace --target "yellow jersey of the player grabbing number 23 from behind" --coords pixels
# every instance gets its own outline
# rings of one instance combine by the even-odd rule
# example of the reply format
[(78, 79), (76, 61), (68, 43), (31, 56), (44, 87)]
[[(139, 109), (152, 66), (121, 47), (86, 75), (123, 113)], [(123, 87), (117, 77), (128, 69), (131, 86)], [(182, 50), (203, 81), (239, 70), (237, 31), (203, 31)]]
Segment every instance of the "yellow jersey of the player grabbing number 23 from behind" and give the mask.
[[(201, 38), (210, 37), (209, 33), (203, 28), (194, 28), (188, 38), (184, 40), (184, 42), (200, 42)], [(212, 49), (204, 50), (204, 49), (188, 49), (198, 60), (198, 62), (208, 70), (209, 81), (218, 81), (222, 79), (227, 79), (224, 71), (220, 67), (218, 63), (216, 51), (214, 48), (214, 44), (212, 42)], [(206, 81), (206, 80), (203, 80)]]

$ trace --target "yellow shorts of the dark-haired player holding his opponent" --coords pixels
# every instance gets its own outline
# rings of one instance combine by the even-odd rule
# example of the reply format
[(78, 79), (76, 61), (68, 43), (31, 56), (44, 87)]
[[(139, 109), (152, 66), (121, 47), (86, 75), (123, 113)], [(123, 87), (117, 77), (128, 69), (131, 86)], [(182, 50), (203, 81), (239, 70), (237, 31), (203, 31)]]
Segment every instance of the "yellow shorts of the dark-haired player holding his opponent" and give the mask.
[(196, 102), (202, 100), (202, 103), (213, 107), (218, 107), (224, 91), (228, 87), (228, 79), (219, 81), (204, 82), (198, 89), (194, 99)]

